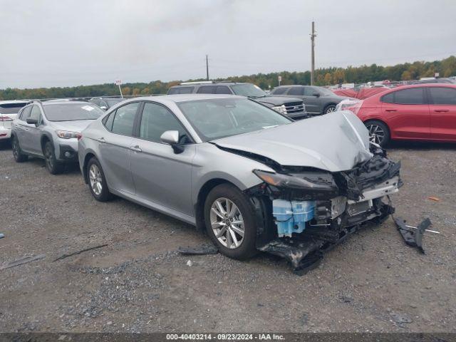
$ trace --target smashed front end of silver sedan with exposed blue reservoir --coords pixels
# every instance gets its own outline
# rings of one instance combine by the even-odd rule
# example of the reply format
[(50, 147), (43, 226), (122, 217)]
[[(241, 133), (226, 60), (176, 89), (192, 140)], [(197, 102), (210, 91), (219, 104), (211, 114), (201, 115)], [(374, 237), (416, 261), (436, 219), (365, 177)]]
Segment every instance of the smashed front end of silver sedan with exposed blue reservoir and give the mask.
[(264, 182), (249, 190), (264, 202), (264, 227), (259, 229), (257, 247), (286, 257), (296, 273), (306, 273), (306, 260), (320, 260), (321, 252), (362, 224), (383, 222), (394, 212), (385, 199), (402, 185), (399, 170), (400, 163), (380, 150), (367, 162), (343, 172), (301, 167), (254, 170)]

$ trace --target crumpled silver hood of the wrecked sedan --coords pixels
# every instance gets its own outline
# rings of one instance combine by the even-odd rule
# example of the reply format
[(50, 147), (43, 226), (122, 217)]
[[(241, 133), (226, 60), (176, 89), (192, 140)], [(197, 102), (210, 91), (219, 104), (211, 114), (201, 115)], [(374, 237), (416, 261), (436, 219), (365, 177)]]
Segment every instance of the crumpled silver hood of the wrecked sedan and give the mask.
[(268, 157), (283, 166), (316, 167), (330, 172), (351, 170), (373, 156), (369, 152), (368, 130), (349, 110), (212, 142)]

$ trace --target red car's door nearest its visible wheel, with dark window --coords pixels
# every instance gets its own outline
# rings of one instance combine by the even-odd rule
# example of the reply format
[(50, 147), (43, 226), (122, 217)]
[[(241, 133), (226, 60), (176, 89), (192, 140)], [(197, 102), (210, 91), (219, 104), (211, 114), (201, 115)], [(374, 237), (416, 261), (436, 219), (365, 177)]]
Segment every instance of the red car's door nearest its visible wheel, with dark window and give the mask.
[(382, 115), (393, 139), (430, 139), (430, 111), (425, 88), (396, 90), (380, 98)]

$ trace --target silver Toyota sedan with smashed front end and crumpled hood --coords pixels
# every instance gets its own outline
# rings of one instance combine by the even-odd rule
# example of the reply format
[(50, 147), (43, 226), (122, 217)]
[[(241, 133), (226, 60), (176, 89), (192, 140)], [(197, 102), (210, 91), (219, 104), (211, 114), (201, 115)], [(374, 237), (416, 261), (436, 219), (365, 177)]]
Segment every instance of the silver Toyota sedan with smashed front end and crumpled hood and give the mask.
[(400, 163), (353, 113), (294, 122), (233, 95), (124, 101), (83, 130), (78, 150), (95, 199), (130, 199), (205, 229), (228, 257), (261, 250), (295, 269), (382, 222), (402, 185)]

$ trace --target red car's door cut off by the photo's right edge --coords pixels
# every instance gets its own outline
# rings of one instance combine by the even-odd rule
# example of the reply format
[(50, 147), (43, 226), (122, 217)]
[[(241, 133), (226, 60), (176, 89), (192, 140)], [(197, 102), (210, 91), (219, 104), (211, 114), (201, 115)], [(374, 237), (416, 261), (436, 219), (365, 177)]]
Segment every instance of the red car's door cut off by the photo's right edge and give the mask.
[(456, 140), (456, 88), (428, 87), (430, 95), (430, 138)]

